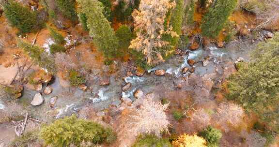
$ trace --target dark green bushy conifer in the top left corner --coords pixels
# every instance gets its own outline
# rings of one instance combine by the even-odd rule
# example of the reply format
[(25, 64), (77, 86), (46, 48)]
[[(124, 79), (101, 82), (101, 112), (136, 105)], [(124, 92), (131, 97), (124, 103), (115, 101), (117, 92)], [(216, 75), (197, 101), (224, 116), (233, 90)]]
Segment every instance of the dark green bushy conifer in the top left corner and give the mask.
[(43, 23), (38, 19), (38, 12), (31, 11), (16, 1), (8, 0), (3, 4), (4, 14), (13, 27), (19, 29), (20, 33), (36, 31), (43, 27)]

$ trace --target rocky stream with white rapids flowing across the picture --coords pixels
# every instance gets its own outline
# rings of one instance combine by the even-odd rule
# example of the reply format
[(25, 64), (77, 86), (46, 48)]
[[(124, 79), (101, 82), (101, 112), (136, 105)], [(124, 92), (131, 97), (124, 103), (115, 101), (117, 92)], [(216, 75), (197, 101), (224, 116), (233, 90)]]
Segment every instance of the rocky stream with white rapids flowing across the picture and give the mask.
[[(237, 44), (237, 45), (236, 45)], [(240, 44), (240, 45), (239, 45)], [(135, 100), (133, 93), (137, 89), (141, 89), (144, 93), (156, 91), (157, 93), (164, 93), (165, 91), (175, 90), (173, 81), (180, 77), (187, 77), (189, 73), (182, 74), (184, 67), (190, 66), (187, 64), (188, 59), (198, 61), (195, 67), (195, 74), (203, 76), (206, 73), (215, 73), (218, 66), (222, 66), (226, 62), (234, 62), (238, 57), (248, 60), (248, 53), (253, 49), (254, 45), (247, 45), (246, 43), (231, 43), (225, 48), (217, 48), (212, 45), (207, 48), (200, 48), (196, 51), (189, 51), (185, 56), (174, 56), (168, 59), (165, 63), (156, 66), (147, 71), (142, 77), (130, 76), (120, 79), (115, 75), (110, 76), (109, 86), (99, 86), (98, 84), (90, 85), (91, 90), (83, 92), (78, 88), (63, 88), (59, 79), (56, 78), (50, 86), (54, 89), (50, 95), (44, 95), (45, 102), (40, 106), (31, 106), (30, 102), (38, 91), (32, 91), (27, 88), (24, 90), (22, 98), (19, 103), (26, 103), (26, 109), (31, 112), (32, 117), (41, 120), (51, 120), (54, 118), (61, 118), (63, 116), (76, 113), (79, 108), (85, 104), (93, 105), (97, 110), (107, 108), (109, 105), (119, 106), (121, 97)], [(210, 62), (207, 66), (202, 66), (199, 61), (204, 60), (209, 56)], [(166, 75), (156, 76), (154, 71), (156, 69), (166, 70)], [(131, 88), (123, 92), (121, 87), (125, 83), (131, 83)], [(42, 91), (41, 91), (42, 92)], [(53, 96), (58, 96), (55, 108), (49, 107), (49, 100)], [(0, 109), (4, 107), (0, 102)]]

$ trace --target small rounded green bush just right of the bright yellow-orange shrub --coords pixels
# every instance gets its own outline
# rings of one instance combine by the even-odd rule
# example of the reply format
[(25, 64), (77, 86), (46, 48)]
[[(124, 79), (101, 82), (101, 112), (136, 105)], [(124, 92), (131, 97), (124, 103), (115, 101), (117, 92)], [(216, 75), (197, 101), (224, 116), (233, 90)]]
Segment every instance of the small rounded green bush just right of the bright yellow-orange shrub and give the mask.
[(207, 142), (207, 147), (219, 147), (219, 140), (222, 137), (222, 132), (211, 126), (199, 132), (199, 136), (203, 137)]

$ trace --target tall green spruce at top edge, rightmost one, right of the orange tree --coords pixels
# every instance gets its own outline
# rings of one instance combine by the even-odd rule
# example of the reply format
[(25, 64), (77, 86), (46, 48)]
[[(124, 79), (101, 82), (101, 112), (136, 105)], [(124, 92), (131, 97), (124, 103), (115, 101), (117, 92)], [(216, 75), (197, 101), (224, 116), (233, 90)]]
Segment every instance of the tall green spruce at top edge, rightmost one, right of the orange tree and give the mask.
[(216, 0), (202, 18), (202, 35), (216, 38), (236, 5), (237, 0)]

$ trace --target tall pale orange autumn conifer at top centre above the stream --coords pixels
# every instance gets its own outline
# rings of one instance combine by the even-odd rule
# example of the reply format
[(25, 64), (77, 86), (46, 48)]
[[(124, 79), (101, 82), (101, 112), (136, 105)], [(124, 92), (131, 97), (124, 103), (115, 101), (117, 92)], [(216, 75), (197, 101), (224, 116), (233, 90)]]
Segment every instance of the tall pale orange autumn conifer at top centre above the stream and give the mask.
[(178, 36), (171, 27), (164, 27), (166, 14), (174, 7), (175, 1), (171, 0), (141, 0), (139, 11), (132, 14), (137, 38), (131, 41), (129, 48), (141, 51), (149, 65), (165, 61), (162, 52), (165, 54), (164, 47), (170, 43), (164, 41), (162, 35)]

